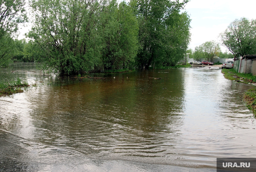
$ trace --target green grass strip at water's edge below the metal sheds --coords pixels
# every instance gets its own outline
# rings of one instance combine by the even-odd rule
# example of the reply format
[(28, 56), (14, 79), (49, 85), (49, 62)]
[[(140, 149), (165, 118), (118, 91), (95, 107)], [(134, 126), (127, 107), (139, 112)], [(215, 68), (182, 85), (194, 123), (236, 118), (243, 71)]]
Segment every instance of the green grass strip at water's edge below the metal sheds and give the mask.
[(256, 76), (253, 76), (250, 73), (238, 73), (233, 68), (231, 69), (222, 69), (221, 71), (224, 73), (224, 77), (230, 80), (243, 80), (243, 83), (255, 83)]

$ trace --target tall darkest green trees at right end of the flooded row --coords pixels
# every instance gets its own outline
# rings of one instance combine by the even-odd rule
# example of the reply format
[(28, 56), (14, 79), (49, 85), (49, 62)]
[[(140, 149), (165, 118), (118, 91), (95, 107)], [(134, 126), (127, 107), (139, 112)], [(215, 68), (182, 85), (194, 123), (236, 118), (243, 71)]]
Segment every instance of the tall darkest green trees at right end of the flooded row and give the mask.
[(187, 2), (130, 1), (139, 24), (138, 66), (174, 66), (184, 57), (190, 40), (190, 19), (180, 10)]

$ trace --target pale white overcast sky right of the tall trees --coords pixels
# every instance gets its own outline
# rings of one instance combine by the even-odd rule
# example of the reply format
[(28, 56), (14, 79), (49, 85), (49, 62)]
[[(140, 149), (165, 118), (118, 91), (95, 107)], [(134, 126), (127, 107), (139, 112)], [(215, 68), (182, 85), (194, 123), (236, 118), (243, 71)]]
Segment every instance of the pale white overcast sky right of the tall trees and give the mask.
[[(235, 19), (256, 19), (255, 7), (256, 0), (190, 0), (185, 6), (192, 19), (189, 48), (218, 41), (219, 34)], [(223, 46), (221, 49), (223, 53), (226, 50)]]

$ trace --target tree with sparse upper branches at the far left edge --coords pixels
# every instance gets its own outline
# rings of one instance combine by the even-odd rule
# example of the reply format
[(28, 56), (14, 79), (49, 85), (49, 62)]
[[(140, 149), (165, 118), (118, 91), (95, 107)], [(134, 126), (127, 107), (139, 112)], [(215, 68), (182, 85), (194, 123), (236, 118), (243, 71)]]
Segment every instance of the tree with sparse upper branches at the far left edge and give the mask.
[(12, 36), (17, 33), (18, 25), (27, 21), (26, 0), (2, 0), (0, 6), (0, 66), (6, 65), (11, 58)]

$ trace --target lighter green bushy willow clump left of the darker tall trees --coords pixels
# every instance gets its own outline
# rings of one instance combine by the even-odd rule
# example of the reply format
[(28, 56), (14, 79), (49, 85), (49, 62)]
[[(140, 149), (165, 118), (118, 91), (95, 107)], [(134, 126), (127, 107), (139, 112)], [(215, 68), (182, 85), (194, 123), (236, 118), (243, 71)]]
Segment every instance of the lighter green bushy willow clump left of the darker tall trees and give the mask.
[(28, 37), (43, 68), (61, 74), (130, 67), (137, 54), (137, 22), (125, 2), (33, 1)]

